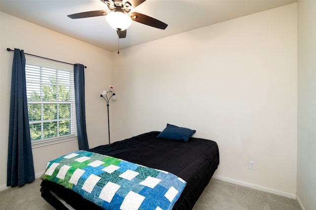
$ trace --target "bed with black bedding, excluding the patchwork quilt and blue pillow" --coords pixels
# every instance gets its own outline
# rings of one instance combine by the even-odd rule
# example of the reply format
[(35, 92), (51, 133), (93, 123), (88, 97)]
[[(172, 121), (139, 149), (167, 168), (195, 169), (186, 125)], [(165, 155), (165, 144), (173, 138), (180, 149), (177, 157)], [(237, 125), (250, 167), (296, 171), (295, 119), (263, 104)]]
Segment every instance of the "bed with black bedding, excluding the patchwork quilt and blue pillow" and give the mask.
[[(190, 137), (187, 141), (175, 141), (157, 138), (159, 134), (159, 131), (152, 131), (111, 145), (89, 149), (87, 152), (172, 173), (186, 182), (182, 193), (172, 205), (172, 210), (192, 210), (219, 165), (218, 146), (211, 140)], [(42, 180), (40, 192), (57, 210), (68, 210), (60, 199), (76, 210), (107, 209), (49, 180)]]

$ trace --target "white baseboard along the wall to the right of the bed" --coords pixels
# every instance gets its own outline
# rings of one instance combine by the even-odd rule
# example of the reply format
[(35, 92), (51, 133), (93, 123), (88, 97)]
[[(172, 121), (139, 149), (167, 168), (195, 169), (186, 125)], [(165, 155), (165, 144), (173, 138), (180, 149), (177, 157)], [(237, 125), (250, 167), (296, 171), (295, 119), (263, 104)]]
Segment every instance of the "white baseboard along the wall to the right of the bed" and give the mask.
[[(253, 188), (253, 189), (261, 190), (261, 191), (264, 191), (264, 192), (270, 192), (270, 193), (273, 193), (273, 194), (276, 194), (276, 195), (281, 195), (281, 196), (284, 196), (284, 197), (287, 197), (287, 198), (292, 198), (292, 199), (296, 199), (297, 198), (297, 196), (295, 194), (287, 193), (287, 192), (283, 192), (283, 191), (279, 191), (279, 190), (275, 190), (275, 189), (271, 189), (271, 188), (268, 188), (268, 187), (256, 185), (256, 184), (249, 183), (249, 182), (246, 182), (246, 181), (234, 180), (234, 179), (231, 179), (231, 178), (217, 176), (217, 175), (214, 175), (213, 178), (217, 179), (217, 180), (227, 181), (227, 182), (231, 182), (231, 183), (238, 184), (238, 185), (241, 185), (241, 186), (246, 186), (246, 187), (250, 187), (250, 188)], [(302, 209), (302, 210), (304, 210), (304, 209)]]

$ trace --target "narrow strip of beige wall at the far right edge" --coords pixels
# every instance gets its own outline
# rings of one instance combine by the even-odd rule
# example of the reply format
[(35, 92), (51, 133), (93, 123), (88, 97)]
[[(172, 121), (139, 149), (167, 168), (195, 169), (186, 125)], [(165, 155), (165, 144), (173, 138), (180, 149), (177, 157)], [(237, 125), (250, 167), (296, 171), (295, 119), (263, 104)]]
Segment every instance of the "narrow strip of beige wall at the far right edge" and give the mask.
[(316, 207), (316, 1), (298, 1), (297, 197)]

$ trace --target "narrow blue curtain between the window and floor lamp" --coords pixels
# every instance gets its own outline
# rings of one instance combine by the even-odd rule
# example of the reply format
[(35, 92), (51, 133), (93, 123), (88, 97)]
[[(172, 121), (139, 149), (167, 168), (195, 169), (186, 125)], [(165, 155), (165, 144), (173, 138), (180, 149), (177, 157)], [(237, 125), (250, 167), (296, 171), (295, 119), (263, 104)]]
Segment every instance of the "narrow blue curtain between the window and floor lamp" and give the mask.
[(74, 79), (79, 150), (86, 150), (89, 149), (89, 145), (85, 126), (84, 65), (74, 65)]

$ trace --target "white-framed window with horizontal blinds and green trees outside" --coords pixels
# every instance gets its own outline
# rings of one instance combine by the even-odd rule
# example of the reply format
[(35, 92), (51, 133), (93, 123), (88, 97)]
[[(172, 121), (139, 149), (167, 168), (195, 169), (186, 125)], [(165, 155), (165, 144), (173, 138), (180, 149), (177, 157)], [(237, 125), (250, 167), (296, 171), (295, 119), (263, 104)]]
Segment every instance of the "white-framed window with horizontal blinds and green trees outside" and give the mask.
[(32, 146), (76, 137), (73, 66), (27, 59), (25, 74)]

